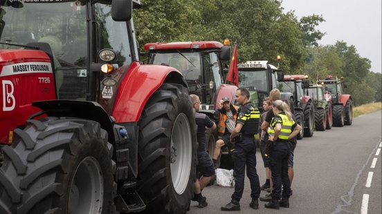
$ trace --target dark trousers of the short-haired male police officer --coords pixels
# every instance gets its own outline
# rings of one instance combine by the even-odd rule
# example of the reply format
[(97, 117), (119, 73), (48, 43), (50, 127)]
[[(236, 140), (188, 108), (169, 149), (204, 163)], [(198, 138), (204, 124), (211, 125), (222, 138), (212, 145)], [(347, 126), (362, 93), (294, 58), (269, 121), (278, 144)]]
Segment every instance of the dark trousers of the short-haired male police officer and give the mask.
[(240, 201), (243, 196), (245, 169), (251, 183), (251, 197), (255, 200), (260, 197), (260, 182), (256, 171), (256, 146), (254, 138), (244, 139), (235, 145), (233, 151), (235, 191), (232, 197), (237, 201)]

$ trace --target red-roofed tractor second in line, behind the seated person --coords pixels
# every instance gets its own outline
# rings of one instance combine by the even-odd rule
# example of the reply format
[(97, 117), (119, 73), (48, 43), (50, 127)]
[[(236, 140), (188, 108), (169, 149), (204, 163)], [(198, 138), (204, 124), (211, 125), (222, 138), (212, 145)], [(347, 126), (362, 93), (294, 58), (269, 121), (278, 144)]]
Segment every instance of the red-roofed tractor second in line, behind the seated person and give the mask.
[[(218, 41), (146, 43), (144, 49), (149, 51), (147, 64), (172, 66), (183, 74), (190, 94), (197, 95), (201, 101), (200, 113), (213, 119), (213, 113), (219, 108), (219, 101), (223, 97), (229, 97), (235, 103), (237, 87), (224, 84), (224, 61), (231, 57), (228, 40), (224, 44)], [(211, 156), (215, 151), (216, 141), (217, 129), (208, 135), (206, 142)], [(222, 151), (224, 150), (230, 151), (231, 148), (223, 148)], [(217, 167), (233, 168), (231, 154), (223, 154), (218, 159)], [(210, 184), (213, 182), (215, 179), (211, 179)]]

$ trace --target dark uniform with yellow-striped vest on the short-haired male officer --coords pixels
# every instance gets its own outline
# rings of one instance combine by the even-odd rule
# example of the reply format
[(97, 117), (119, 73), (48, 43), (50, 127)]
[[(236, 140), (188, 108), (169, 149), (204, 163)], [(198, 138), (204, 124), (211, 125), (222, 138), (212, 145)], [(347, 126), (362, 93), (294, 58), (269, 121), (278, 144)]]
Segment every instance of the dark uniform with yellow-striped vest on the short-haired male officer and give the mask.
[(245, 168), (247, 166), (247, 176), (251, 183), (251, 197), (257, 200), (260, 197), (260, 182), (256, 171), (256, 140), (257, 128), (259, 126), (260, 112), (248, 102), (238, 110), (236, 123), (243, 124), (240, 130), (241, 139), (236, 142), (233, 159), (235, 168), (233, 177), (235, 178), (235, 191), (233, 200), (240, 201), (244, 191)]

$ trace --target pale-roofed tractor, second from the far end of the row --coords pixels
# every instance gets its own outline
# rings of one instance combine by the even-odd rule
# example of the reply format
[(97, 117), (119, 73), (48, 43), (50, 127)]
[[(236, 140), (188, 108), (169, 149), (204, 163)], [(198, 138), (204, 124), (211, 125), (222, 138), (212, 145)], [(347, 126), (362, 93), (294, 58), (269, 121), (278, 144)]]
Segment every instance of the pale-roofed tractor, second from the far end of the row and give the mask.
[(305, 88), (306, 95), (312, 98), (314, 106), (314, 123), (316, 130), (331, 129), (331, 100), (326, 100), (323, 87), (319, 84), (311, 84)]

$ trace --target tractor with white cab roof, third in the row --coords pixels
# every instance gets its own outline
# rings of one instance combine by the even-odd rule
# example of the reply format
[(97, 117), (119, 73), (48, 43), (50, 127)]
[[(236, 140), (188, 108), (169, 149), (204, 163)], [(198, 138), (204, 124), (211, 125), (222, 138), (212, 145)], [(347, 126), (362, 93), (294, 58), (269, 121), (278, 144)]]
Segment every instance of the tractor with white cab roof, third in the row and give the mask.
[(239, 87), (247, 88), (250, 101), (262, 111), (262, 103), (273, 88), (278, 88), (279, 81), (284, 79), (284, 72), (268, 61), (246, 61), (238, 64)]

